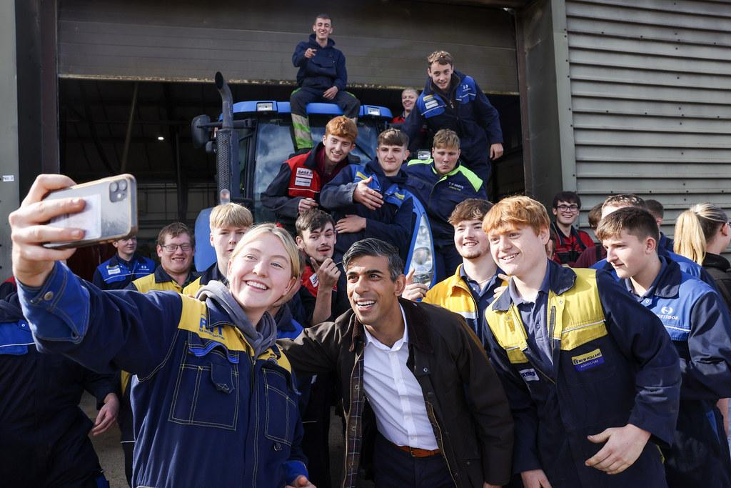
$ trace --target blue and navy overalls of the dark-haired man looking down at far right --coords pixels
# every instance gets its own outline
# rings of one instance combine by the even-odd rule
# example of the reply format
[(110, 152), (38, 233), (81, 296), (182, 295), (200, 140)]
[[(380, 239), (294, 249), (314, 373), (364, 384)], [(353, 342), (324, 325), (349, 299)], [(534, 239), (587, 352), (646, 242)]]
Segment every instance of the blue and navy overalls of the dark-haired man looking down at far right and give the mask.
[[(731, 397), (731, 317), (719, 296), (700, 279), (660, 258), (650, 289), (634, 295), (657, 315), (678, 350), (683, 383), (678, 427), (665, 450), (670, 488), (731, 487), (731, 459), (716, 402)], [(632, 282), (624, 280), (630, 293)]]

